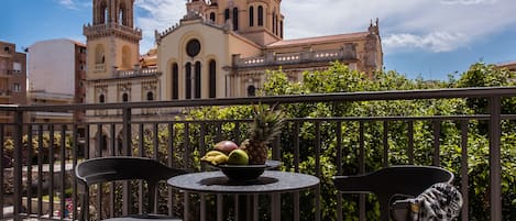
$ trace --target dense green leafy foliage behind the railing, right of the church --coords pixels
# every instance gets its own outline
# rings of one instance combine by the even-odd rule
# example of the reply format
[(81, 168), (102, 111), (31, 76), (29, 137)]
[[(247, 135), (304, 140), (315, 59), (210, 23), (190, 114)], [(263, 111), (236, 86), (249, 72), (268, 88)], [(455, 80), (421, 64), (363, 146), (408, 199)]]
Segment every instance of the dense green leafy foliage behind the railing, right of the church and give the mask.
[[(482, 78), (484, 77), (484, 78)], [(471, 69), (463, 74), (459, 80), (425, 81), (421, 79), (410, 80), (395, 71), (378, 71), (374, 79), (367, 78), (362, 73), (349, 69), (345, 65), (336, 63), (325, 71), (306, 71), (303, 74), (301, 82), (289, 82), (281, 70), (267, 73), (267, 81), (263, 86), (261, 95), (304, 95), (304, 93), (329, 93), (329, 92), (353, 92), (353, 91), (386, 91), (386, 90), (415, 90), (415, 89), (439, 89), (446, 87), (492, 87), (514, 85), (509, 79), (514, 78), (512, 73), (497, 70), (485, 64), (474, 64)], [(513, 113), (513, 99), (503, 102), (503, 112)], [(295, 103), (282, 104), (282, 111), (289, 119), (303, 118), (301, 124), (292, 121), (282, 134), (279, 146), (282, 147), (281, 161), (286, 170), (299, 170), (300, 173), (318, 175), (321, 179), (321, 210), (322, 220), (331, 220), (336, 214), (338, 192), (332, 188), (331, 177), (342, 172), (347, 175), (358, 174), (361, 170), (359, 162), (364, 159), (365, 172), (375, 170), (383, 165), (418, 164), (432, 165), (435, 156), (439, 156), (440, 165), (455, 174), (457, 185), (460, 185), (461, 161), (469, 163), (469, 199), (471, 219), (488, 219), (488, 137), (486, 136), (486, 122), (479, 121), (452, 121), (452, 120), (396, 120), (396, 121), (331, 121), (318, 120), (318, 118), (334, 117), (433, 117), (433, 115), (460, 115), (472, 113), (484, 113), (486, 102), (465, 99), (435, 99), (435, 100), (395, 100), (395, 101), (362, 101), (362, 102), (327, 102), (327, 103)], [(191, 112), (205, 115), (208, 110)], [(249, 109), (245, 107), (230, 107), (219, 109), (220, 114), (210, 114), (212, 119), (249, 119)], [(232, 113), (232, 114), (228, 114)], [(312, 120), (310, 120), (312, 119)], [(468, 158), (461, 159), (461, 123), (468, 123)], [(408, 129), (413, 133), (413, 156), (409, 157)], [(515, 214), (510, 208), (516, 206), (514, 186), (514, 174), (516, 172), (516, 154), (514, 146), (513, 122), (503, 122), (503, 205), (504, 220), (514, 219)], [(228, 128), (223, 128), (222, 133)], [(245, 130), (240, 128), (241, 130)], [(363, 131), (361, 134), (360, 131)], [(384, 133), (388, 131), (388, 133)], [(341, 141), (336, 139), (340, 133)], [(433, 142), (435, 133), (438, 133), (439, 147)], [(384, 139), (384, 135), (387, 135)], [(239, 139), (227, 136), (229, 139)], [(299, 139), (299, 148), (294, 150), (292, 141)], [(361, 144), (361, 141), (363, 143)], [(385, 143), (386, 142), (386, 143)], [(388, 146), (388, 157), (384, 158), (384, 146)], [(363, 147), (364, 152), (360, 153)], [(439, 151), (439, 153), (433, 153)], [(337, 153), (341, 158), (337, 161)], [(363, 154), (363, 155), (362, 155)], [(298, 161), (295, 159), (296, 155)], [(312, 194), (301, 196), (301, 201), (314, 199)], [(345, 197), (343, 201), (343, 213), (345, 219), (354, 220), (350, 214), (358, 213), (356, 197)], [(374, 197), (367, 197), (367, 219), (378, 219), (378, 205)], [(292, 207), (289, 198), (286, 197), (283, 207)], [(285, 211), (289, 211), (286, 209)], [(301, 219), (310, 220), (314, 205), (303, 203)], [(283, 219), (288, 220), (292, 214), (282, 213)]]

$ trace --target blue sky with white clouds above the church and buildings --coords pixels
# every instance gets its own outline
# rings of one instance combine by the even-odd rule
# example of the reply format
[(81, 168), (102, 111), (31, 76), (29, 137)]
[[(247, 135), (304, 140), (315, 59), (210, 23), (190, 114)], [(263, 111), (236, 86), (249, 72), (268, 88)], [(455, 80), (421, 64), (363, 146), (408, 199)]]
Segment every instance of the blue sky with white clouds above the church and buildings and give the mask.
[[(178, 23), (186, 0), (135, 0), (140, 53), (154, 31)], [(39, 41), (86, 42), (92, 0), (0, 0), (0, 41), (21, 52)], [(283, 0), (284, 38), (364, 32), (378, 19), (384, 69), (407, 78), (455, 78), (476, 62), (516, 62), (515, 0)]]

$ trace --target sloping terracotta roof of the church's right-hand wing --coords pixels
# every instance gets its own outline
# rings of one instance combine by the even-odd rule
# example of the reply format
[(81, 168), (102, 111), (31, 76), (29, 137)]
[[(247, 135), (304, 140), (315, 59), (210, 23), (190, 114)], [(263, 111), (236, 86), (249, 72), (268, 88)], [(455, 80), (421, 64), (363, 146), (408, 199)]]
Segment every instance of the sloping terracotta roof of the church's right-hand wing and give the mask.
[(350, 40), (365, 37), (369, 34), (370, 34), (369, 32), (356, 32), (356, 33), (306, 37), (306, 38), (296, 38), (296, 40), (283, 40), (279, 42), (272, 43), (267, 45), (267, 47), (284, 47), (284, 46), (296, 46), (296, 45), (317, 44), (317, 43), (327, 43), (327, 42), (337, 42), (337, 41), (350, 41)]

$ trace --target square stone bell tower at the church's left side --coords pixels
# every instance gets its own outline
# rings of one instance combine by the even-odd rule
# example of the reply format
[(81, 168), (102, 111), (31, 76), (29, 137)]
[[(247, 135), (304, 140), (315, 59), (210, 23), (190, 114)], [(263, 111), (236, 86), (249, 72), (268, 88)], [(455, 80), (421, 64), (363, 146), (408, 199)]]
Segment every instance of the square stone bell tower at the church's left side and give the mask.
[(116, 78), (139, 64), (142, 31), (134, 27), (134, 0), (94, 0), (92, 24), (84, 26), (88, 80)]

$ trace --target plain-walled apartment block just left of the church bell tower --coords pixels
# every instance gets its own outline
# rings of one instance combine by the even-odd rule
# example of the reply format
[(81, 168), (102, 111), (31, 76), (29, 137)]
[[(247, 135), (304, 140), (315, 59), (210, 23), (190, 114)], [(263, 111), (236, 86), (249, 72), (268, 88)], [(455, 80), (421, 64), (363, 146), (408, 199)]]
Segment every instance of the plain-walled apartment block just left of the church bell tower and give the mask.
[[(29, 47), (29, 103), (83, 103), (86, 96), (86, 45), (72, 40), (47, 40)], [(84, 111), (34, 112), (35, 123), (83, 122)]]

